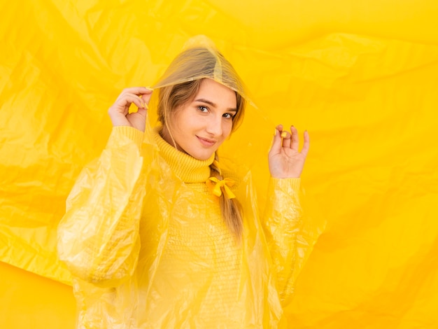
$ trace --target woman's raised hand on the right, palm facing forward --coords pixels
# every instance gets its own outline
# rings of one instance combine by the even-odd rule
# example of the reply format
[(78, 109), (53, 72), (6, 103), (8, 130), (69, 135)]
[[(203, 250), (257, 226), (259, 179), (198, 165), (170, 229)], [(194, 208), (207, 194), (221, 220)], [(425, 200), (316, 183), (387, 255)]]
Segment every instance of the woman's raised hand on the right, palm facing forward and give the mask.
[[(298, 178), (304, 168), (307, 152), (309, 152), (309, 133), (304, 132), (304, 144), (301, 152), (298, 151), (298, 131), (294, 126), (290, 132), (283, 130), (282, 125), (275, 129), (274, 141), (269, 151), (269, 172), (276, 179)], [(281, 137), (283, 133), (284, 137)]]

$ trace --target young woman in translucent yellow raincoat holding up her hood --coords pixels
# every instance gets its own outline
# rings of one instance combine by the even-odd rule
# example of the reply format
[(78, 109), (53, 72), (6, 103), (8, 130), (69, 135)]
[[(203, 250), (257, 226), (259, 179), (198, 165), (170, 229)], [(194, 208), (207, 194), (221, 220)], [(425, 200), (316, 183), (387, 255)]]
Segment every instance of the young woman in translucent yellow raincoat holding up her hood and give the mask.
[[(157, 92), (161, 125), (151, 130)], [(128, 88), (111, 106), (108, 144), (80, 175), (59, 225), (78, 328), (285, 325), (309, 136), (299, 152), (297, 130), (276, 127), (260, 221), (250, 174), (217, 155), (245, 97), (231, 64), (202, 47), (178, 55), (154, 92)]]

